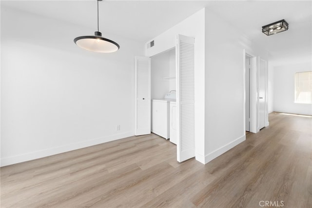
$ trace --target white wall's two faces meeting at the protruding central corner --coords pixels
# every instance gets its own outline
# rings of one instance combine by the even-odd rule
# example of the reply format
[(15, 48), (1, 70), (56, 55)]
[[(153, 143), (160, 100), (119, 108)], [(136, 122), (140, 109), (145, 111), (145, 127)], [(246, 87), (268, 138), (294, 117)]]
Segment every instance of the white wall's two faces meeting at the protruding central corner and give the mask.
[(176, 34), (195, 37), (195, 155), (206, 164), (245, 140), (244, 50), (266, 64), (268, 52), (205, 8), (153, 39), (146, 56), (173, 48)]

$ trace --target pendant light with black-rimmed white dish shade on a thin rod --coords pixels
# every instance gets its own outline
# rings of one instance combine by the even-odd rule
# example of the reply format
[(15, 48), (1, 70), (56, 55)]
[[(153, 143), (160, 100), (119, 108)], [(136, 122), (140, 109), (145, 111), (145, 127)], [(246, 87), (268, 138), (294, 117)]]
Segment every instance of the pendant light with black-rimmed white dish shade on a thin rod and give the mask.
[[(97, 0), (102, 1), (102, 0)], [(74, 39), (74, 42), (83, 49), (99, 53), (112, 53), (117, 51), (120, 46), (117, 42), (103, 38), (99, 31), (94, 32), (94, 36), (80, 36)]]

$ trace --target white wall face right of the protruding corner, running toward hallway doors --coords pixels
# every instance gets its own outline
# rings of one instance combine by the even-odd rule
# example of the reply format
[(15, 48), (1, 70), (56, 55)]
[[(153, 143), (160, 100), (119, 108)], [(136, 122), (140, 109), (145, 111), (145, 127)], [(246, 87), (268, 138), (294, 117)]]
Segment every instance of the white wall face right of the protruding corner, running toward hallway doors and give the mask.
[(244, 49), (265, 61), (268, 54), (207, 8), (205, 34), (205, 163), (208, 163), (246, 138)]

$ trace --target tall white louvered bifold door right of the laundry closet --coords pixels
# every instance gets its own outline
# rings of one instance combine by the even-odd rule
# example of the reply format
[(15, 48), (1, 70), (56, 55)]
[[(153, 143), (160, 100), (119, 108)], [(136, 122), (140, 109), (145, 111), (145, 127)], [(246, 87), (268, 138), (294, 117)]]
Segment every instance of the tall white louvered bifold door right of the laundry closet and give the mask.
[(178, 112), (178, 162), (195, 157), (194, 42), (194, 38), (182, 35), (177, 36), (176, 102)]

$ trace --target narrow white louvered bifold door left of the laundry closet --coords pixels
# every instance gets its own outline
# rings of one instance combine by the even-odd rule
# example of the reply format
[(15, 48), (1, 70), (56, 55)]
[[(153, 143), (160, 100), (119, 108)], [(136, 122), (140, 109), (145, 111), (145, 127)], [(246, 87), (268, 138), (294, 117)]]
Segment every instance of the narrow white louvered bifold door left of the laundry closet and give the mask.
[(135, 135), (151, 133), (151, 59), (136, 57)]

